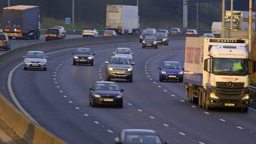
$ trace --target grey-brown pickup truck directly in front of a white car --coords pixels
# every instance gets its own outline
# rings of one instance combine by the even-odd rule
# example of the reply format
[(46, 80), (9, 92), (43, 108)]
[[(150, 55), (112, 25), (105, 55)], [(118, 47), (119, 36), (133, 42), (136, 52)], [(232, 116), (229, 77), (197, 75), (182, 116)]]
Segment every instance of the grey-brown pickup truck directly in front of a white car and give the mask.
[(106, 81), (111, 81), (111, 78), (124, 78), (128, 82), (132, 82), (132, 66), (128, 57), (112, 56), (109, 61), (105, 61), (106, 66)]

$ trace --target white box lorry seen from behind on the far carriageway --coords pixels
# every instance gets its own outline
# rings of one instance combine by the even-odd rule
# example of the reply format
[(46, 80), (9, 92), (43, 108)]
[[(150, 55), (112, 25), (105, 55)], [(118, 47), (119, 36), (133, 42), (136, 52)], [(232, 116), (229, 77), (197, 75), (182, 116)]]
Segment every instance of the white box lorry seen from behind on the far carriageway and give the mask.
[(106, 5), (106, 29), (118, 34), (139, 34), (138, 7)]

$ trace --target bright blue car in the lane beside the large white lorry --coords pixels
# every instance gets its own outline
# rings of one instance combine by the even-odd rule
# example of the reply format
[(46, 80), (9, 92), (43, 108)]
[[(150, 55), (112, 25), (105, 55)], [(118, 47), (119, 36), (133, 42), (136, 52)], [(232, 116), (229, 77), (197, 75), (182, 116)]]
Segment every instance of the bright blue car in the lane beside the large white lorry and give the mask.
[(183, 82), (182, 66), (177, 61), (165, 61), (159, 68), (159, 81), (170, 80)]

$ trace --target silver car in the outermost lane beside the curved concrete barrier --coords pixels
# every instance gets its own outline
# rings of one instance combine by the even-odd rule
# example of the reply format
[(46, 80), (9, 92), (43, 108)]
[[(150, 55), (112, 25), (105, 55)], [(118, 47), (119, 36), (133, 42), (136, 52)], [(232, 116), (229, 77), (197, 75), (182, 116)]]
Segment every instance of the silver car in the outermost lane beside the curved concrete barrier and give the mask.
[(24, 70), (29, 69), (43, 69), (47, 68), (47, 59), (42, 51), (28, 51), (24, 57)]

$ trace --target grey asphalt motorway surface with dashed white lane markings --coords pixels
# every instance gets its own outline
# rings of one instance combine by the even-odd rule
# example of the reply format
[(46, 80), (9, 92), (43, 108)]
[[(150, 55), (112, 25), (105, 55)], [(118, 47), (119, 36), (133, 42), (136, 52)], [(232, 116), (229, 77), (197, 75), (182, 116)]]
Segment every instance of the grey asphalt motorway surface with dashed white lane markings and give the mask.
[[(41, 40), (12, 40), (12, 48)], [(11, 87), (24, 111), (68, 143), (114, 143), (117, 132), (124, 128), (156, 130), (169, 143), (255, 143), (253, 109), (248, 113), (205, 111), (188, 102), (183, 83), (158, 81), (163, 61), (184, 63), (184, 40), (170, 40), (169, 46), (158, 49), (142, 49), (139, 40), (86, 47), (96, 53), (94, 66), (72, 66), (74, 48), (48, 53), (46, 72), (25, 71), (19, 65), (23, 59), (18, 59), (0, 70), (0, 92), (14, 103), (4, 74), (12, 70)], [(104, 61), (117, 47), (129, 47), (134, 53), (133, 83), (115, 80), (124, 89), (124, 108), (92, 108), (89, 88), (94, 81), (104, 80)]]

